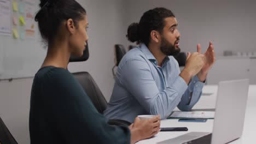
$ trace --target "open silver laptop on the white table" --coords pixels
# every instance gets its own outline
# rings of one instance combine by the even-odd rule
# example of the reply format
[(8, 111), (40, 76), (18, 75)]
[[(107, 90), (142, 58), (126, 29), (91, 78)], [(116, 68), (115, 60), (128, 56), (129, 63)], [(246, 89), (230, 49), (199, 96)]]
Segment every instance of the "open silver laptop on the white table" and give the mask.
[(164, 143), (229, 143), (242, 136), (249, 80), (221, 81), (218, 86), (213, 133), (190, 132)]

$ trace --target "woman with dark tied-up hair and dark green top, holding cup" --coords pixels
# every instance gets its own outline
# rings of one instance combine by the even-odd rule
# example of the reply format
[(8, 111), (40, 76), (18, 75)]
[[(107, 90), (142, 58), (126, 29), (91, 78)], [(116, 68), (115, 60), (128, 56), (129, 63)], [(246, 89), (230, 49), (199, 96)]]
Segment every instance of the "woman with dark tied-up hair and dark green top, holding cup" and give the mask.
[(157, 134), (159, 116), (135, 118), (129, 127), (109, 125), (67, 70), (71, 53), (82, 56), (88, 40), (85, 9), (74, 0), (39, 5), (35, 20), (48, 51), (31, 91), (31, 143), (135, 143)]

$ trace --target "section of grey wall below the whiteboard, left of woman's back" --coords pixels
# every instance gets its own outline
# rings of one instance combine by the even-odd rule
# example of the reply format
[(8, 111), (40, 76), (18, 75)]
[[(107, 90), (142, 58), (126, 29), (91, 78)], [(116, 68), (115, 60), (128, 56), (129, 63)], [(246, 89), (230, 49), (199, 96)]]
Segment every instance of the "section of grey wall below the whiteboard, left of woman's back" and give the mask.
[(30, 143), (28, 113), (32, 79), (0, 82), (0, 116), (18, 143)]

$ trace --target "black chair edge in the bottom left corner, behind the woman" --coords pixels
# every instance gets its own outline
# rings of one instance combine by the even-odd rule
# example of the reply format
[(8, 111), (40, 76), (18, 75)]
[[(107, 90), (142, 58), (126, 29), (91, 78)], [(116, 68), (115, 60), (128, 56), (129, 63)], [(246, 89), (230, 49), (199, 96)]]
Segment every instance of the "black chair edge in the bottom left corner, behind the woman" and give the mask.
[(0, 144), (18, 144), (0, 117)]

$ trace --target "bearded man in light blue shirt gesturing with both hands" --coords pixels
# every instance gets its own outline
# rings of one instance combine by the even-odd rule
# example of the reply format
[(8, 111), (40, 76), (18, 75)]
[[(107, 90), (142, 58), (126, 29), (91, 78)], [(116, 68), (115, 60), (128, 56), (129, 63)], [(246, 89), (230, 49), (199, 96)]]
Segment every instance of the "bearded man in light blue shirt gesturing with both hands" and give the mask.
[(181, 34), (172, 11), (155, 8), (132, 23), (126, 37), (138, 47), (127, 52), (119, 63), (115, 85), (104, 115), (109, 119), (133, 122), (138, 115), (160, 115), (166, 118), (178, 106), (190, 111), (200, 99), (215, 54), (210, 42), (205, 53), (188, 53), (185, 67), (173, 55), (179, 49)]

